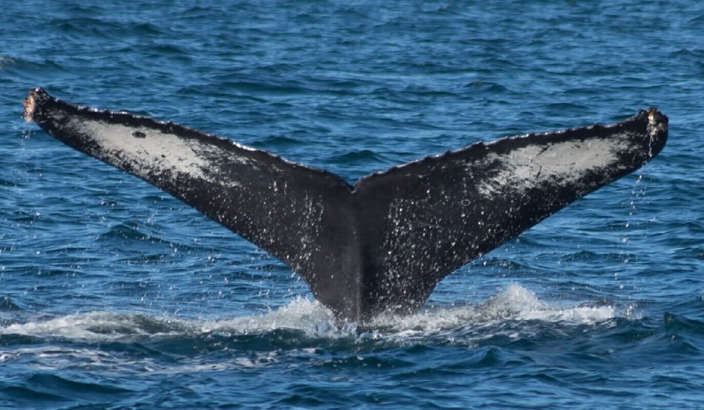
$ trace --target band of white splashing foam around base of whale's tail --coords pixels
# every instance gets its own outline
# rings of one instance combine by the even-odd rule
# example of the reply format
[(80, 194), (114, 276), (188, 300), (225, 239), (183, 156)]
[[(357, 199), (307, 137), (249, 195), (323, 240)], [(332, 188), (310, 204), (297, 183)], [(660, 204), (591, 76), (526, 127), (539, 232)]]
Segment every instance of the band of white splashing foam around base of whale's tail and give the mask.
[(382, 314), (366, 323), (363, 329), (355, 323), (337, 323), (332, 312), (320, 303), (298, 298), (270, 313), (218, 321), (91, 312), (61, 316), (49, 321), (3, 326), (0, 335), (106, 342), (159, 336), (261, 335), (275, 330), (297, 330), (307, 337), (371, 336), (402, 341), (410, 336), (431, 336), (457, 328), (488, 328), (505, 321), (593, 325), (615, 318), (616, 315), (617, 310), (613, 306), (551, 306), (541, 302), (534, 292), (513, 284), (479, 305), (427, 309), (412, 316)]

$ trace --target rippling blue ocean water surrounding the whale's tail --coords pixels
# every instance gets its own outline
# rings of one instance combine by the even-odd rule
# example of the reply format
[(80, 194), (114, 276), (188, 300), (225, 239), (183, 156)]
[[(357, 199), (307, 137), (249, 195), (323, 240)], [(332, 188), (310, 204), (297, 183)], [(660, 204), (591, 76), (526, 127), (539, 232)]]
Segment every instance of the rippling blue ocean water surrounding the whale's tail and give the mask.
[[(1, 409), (704, 408), (704, 2), (6, 1)], [(670, 117), (648, 166), (337, 324), (252, 244), (21, 118), (43, 86), (353, 182)]]

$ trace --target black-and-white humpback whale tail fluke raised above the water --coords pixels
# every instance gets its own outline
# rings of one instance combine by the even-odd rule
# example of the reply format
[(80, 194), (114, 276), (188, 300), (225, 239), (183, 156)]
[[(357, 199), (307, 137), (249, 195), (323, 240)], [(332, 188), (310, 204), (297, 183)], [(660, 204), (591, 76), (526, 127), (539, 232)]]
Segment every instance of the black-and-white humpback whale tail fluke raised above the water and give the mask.
[(645, 165), (667, 117), (475, 142), (349, 185), (230, 139), (61, 101), (25, 118), (61, 142), (194, 206), (301, 275), (337, 318), (417, 309), (446, 275)]

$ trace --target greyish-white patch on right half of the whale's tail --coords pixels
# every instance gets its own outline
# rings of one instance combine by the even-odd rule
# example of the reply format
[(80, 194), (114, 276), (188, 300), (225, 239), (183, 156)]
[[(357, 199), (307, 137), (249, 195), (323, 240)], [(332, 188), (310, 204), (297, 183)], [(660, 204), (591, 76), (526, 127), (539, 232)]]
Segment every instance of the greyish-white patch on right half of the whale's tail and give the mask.
[(530, 188), (546, 180), (563, 186), (574, 184), (589, 171), (615, 166), (619, 160), (618, 152), (630, 146), (628, 135), (620, 134), (608, 139), (529, 145), (508, 154), (489, 154), (482, 163), (488, 166), (498, 161), (500, 171), (494, 178), (482, 181), (477, 190), (489, 196), (507, 186)]

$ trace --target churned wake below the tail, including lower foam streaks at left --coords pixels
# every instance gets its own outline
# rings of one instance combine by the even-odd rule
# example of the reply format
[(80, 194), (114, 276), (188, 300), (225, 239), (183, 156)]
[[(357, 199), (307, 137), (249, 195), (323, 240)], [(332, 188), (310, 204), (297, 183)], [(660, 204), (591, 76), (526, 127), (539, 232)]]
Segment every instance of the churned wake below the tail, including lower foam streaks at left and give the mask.
[[(396, 369), (412, 362), (384, 352), (434, 346), (482, 352), (483, 346), (532, 341), (549, 346), (617, 326), (617, 314), (612, 306), (553, 306), (520, 285), (482, 304), (381, 315), (365, 325), (340, 323), (319, 302), (303, 298), (263, 315), (217, 321), (96, 311), (1, 326), (0, 363), (100, 375), (239, 371), (282, 363)], [(57, 379), (46, 383), (70, 382), (44, 376)]]

